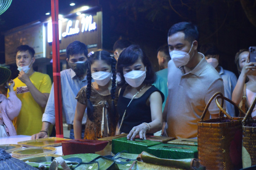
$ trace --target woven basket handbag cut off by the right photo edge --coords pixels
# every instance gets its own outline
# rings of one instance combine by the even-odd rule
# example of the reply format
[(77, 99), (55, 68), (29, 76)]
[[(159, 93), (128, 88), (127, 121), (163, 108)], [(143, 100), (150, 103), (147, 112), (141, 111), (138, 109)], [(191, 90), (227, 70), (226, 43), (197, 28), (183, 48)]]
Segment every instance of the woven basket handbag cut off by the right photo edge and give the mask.
[(256, 104), (256, 96), (248, 109), (246, 116), (242, 120), (243, 143), (242, 143), (242, 162), (243, 168), (256, 165), (256, 120), (249, 119)]

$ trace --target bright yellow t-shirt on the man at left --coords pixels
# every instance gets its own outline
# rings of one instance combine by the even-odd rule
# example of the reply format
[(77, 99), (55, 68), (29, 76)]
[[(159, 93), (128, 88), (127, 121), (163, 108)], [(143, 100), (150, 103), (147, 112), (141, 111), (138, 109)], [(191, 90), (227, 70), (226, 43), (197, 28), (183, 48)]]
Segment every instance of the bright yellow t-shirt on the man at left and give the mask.
[[(50, 93), (52, 82), (50, 76), (47, 74), (35, 72), (29, 76), (33, 85), (41, 93)], [(32, 97), (26, 84), (22, 83), (19, 78), (14, 79), (17, 97), (21, 100), (21, 111), (19, 116), (13, 120), (14, 127), (17, 134), (32, 135), (41, 131), (42, 116), (45, 110)], [(9, 97), (9, 96), (7, 96)]]

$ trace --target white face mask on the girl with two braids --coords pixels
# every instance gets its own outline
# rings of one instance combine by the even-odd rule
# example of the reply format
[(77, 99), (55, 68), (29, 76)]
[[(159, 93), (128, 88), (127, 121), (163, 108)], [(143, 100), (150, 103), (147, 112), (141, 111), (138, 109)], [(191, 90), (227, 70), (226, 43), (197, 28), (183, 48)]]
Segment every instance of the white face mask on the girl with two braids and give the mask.
[(93, 80), (100, 86), (106, 85), (111, 80), (112, 73), (106, 71), (97, 71), (92, 73)]

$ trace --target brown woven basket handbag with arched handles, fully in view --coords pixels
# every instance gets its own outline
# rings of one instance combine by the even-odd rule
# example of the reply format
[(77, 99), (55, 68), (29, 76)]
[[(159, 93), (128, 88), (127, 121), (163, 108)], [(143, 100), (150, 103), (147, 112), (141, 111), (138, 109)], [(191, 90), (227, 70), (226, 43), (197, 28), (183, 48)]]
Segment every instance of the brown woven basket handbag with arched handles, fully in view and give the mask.
[[(214, 97), (220, 108), (219, 118), (204, 121), (204, 116)], [(221, 105), (218, 99), (222, 99)], [(217, 92), (207, 103), (201, 121), (197, 122), (198, 158), (208, 170), (234, 170), (242, 167), (242, 118), (231, 117), (222, 108), (224, 100), (243, 112), (234, 102)], [(221, 116), (222, 113), (227, 117)]]

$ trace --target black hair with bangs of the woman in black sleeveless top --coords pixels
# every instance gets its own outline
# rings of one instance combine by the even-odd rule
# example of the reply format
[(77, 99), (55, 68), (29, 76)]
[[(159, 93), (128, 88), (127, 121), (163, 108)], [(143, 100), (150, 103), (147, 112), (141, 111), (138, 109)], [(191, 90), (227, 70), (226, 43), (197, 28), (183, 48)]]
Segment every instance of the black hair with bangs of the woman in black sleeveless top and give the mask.
[(118, 83), (118, 86), (123, 86), (125, 84), (125, 77), (123, 74), (123, 67), (133, 65), (138, 59), (141, 59), (146, 70), (146, 78), (143, 83), (146, 85), (152, 84), (156, 81), (156, 73), (154, 72), (152, 65), (149, 61), (149, 58), (144, 53), (144, 51), (138, 45), (130, 45), (122, 51), (118, 58), (118, 63), (116, 65), (117, 72), (121, 77), (121, 81)]

